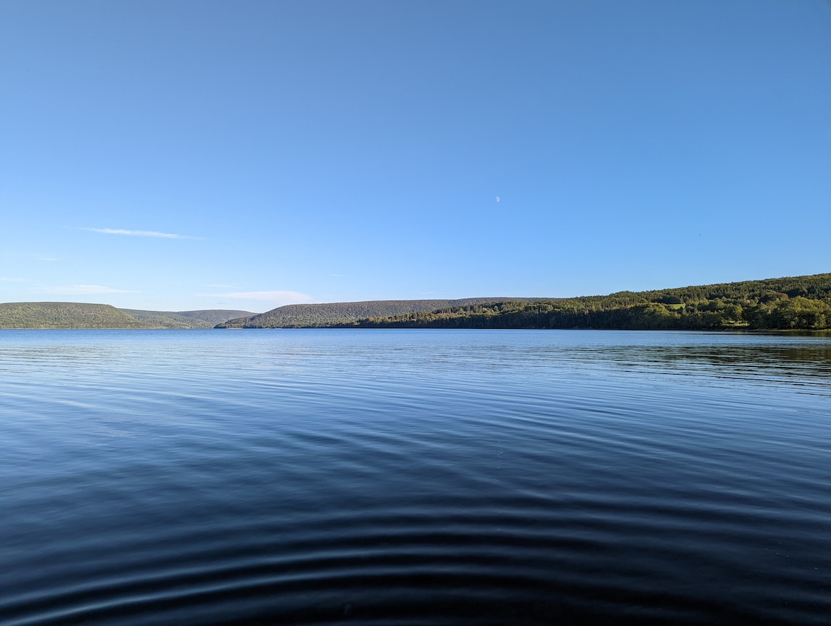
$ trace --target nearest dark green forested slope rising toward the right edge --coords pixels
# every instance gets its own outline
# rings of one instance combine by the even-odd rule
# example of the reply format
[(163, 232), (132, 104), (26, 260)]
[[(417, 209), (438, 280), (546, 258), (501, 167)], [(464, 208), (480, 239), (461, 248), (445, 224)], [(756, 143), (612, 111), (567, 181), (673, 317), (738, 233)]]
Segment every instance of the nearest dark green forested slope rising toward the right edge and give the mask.
[(831, 328), (831, 274), (583, 298), (470, 304), (366, 318), (342, 326), (823, 330)]

